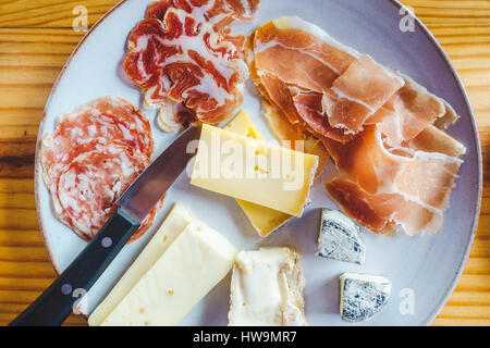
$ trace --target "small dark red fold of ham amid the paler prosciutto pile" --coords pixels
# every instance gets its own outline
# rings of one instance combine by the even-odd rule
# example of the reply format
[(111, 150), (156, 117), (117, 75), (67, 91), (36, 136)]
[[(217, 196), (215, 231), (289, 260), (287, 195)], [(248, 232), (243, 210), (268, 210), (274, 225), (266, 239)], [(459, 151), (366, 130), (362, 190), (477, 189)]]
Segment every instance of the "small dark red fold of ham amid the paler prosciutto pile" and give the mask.
[(313, 129), (314, 134), (343, 144), (353, 138), (353, 135), (346, 135), (343, 129), (330, 126), (328, 117), (323, 114), (322, 95), (298, 94), (293, 100), (298, 115)]

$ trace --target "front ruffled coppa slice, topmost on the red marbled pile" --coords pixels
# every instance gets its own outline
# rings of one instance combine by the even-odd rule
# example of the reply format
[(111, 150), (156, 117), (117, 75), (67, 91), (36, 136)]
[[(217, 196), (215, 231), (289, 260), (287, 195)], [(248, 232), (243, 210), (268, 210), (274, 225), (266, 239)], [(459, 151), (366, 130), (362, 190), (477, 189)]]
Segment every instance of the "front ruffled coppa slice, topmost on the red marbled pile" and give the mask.
[(146, 18), (131, 32), (124, 70), (149, 105), (181, 103), (205, 123), (219, 123), (242, 103), (246, 64), (233, 42), (184, 10)]

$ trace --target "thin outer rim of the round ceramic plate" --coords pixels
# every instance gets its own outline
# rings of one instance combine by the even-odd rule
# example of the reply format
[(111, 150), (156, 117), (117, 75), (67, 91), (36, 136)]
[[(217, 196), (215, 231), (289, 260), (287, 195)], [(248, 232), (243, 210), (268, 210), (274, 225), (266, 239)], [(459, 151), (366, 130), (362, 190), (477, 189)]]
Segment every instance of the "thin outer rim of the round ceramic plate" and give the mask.
[[(78, 53), (79, 49), (85, 45), (86, 40), (89, 38), (89, 36), (94, 33), (95, 29), (97, 29), (97, 27), (102, 24), (113, 12), (115, 12), (122, 4), (124, 4), (125, 2), (127, 2), (128, 0), (121, 0), (120, 2), (118, 2), (115, 5), (113, 5), (109, 11), (107, 11), (93, 26), (84, 35), (84, 37), (79, 40), (79, 42), (76, 45), (76, 47), (74, 48), (73, 52), (70, 54), (69, 59), (66, 60), (66, 62), (63, 64), (63, 67), (61, 69), (60, 73), (58, 74), (58, 77), (51, 88), (51, 91), (49, 94), (48, 99), (46, 100), (45, 103), (45, 108), (44, 108), (44, 112), (42, 112), (42, 117), (39, 122), (39, 129), (38, 129), (38, 134), (37, 134), (37, 139), (36, 139), (36, 151), (35, 151), (35, 167), (34, 167), (34, 195), (35, 195), (35, 203), (36, 203), (36, 215), (37, 215), (37, 221), (38, 221), (38, 225), (39, 225), (39, 233), (41, 235), (42, 238), (42, 244), (45, 246), (46, 252), (48, 254), (48, 259), (51, 263), (51, 266), (54, 270), (54, 273), (57, 275), (60, 275), (60, 268), (59, 265), (56, 263), (54, 258), (52, 256), (52, 251), (49, 247), (48, 244), (48, 237), (47, 237), (47, 233), (46, 233), (46, 228), (44, 226), (42, 223), (42, 216), (40, 213), (40, 200), (39, 200), (39, 185), (42, 185), (42, 175), (40, 175), (39, 171), (40, 171), (40, 149), (42, 146), (42, 134), (45, 130), (45, 121), (46, 121), (46, 115), (47, 115), (47, 111), (51, 105), (52, 102), (52, 97), (53, 95), (57, 92), (59, 84), (61, 82), (61, 79), (63, 78), (66, 70), (69, 69), (70, 64), (72, 63), (73, 59), (75, 58), (75, 55)], [(401, 1), (399, 0), (384, 0), (388, 2), (391, 2), (392, 4), (394, 4), (395, 7), (397, 7), (399, 9), (408, 9), (405, 4), (403, 4)], [(425, 34), (425, 36), (431, 41), (432, 45), (434, 45), (434, 47), (437, 48), (439, 54), (441, 55), (441, 58), (443, 59), (443, 61), (445, 62), (445, 64), (448, 65), (448, 67), (450, 69), (455, 82), (457, 83), (457, 88), (460, 89), (461, 95), (463, 96), (464, 102), (469, 111), (469, 115), (470, 115), (470, 125), (471, 125), (471, 133), (473, 133), (473, 137), (474, 140), (477, 144), (477, 164), (478, 164), (478, 200), (476, 202), (476, 210), (475, 210), (475, 215), (473, 216), (473, 223), (471, 223), (471, 232), (468, 235), (468, 239), (466, 243), (466, 249), (464, 251), (461, 264), (458, 265), (458, 270), (457, 272), (455, 272), (453, 279), (450, 284), (450, 286), (446, 288), (445, 294), (442, 298), (442, 300), (440, 301), (440, 303), (438, 303), (434, 308), (434, 310), (429, 314), (429, 316), (424, 321), (424, 325), (427, 326), (429, 324), (431, 324), (433, 322), (433, 320), (437, 318), (437, 315), (439, 314), (439, 312), (442, 310), (442, 308), (445, 306), (445, 303), (448, 302), (449, 298), (452, 296), (452, 294), (454, 293), (454, 288), (456, 287), (461, 275), (463, 274), (463, 271), (465, 269), (465, 265), (469, 259), (469, 253), (473, 247), (473, 244), (475, 241), (475, 235), (476, 235), (476, 229), (478, 227), (478, 221), (480, 217), (480, 211), (481, 211), (481, 194), (482, 194), (482, 183), (483, 183), (483, 169), (482, 169), (482, 154), (481, 154), (481, 142), (480, 142), (480, 136), (478, 133), (478, 126), (476, 123), (476, 117), (475, 117), (475, 113), (473, 110), (473, 105), (470, 103), (468, 94), (466, 91), (466, 88), (464, 87), (463, 80), (460, 77), (460, 74), (457, 73), (456, 69), (454, 67), (451, 59), (449, 58), (448, 53), (444, 51), (444, 49), (442, 48), (441, 44), (438, 41), (438, 39), (436, 38), (436, 36), (429, 30), (429, 28), (424, 24), (424, 22), (415, 14), (413, 13), (413, 16), (415, 18), (415, 23), (417, 24), (417, 26), (421, 29), (421, 32)]]

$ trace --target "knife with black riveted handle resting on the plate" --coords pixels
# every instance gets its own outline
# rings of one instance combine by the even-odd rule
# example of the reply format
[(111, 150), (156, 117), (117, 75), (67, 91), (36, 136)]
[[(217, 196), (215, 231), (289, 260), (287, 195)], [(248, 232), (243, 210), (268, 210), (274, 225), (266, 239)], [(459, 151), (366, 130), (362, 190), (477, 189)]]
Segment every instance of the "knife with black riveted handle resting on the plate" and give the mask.
[(194, 157), (187, 145), (200, 137), (200, 127), (186, 129), (126, 189), (118, 210), (70, 266), (14, 321), (11, 326), (61, 325), (164, 192)]

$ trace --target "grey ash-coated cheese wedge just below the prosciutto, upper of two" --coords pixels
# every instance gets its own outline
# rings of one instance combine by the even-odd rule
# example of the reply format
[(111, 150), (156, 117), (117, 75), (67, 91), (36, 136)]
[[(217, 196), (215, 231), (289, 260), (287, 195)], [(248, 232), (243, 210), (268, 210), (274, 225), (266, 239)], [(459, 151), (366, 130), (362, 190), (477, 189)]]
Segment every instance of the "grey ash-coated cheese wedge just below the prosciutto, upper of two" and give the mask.
[(358, 225), (338, 210), (323, 209), (318, 236), (318, 254), (362, 264), (366, 248)]

